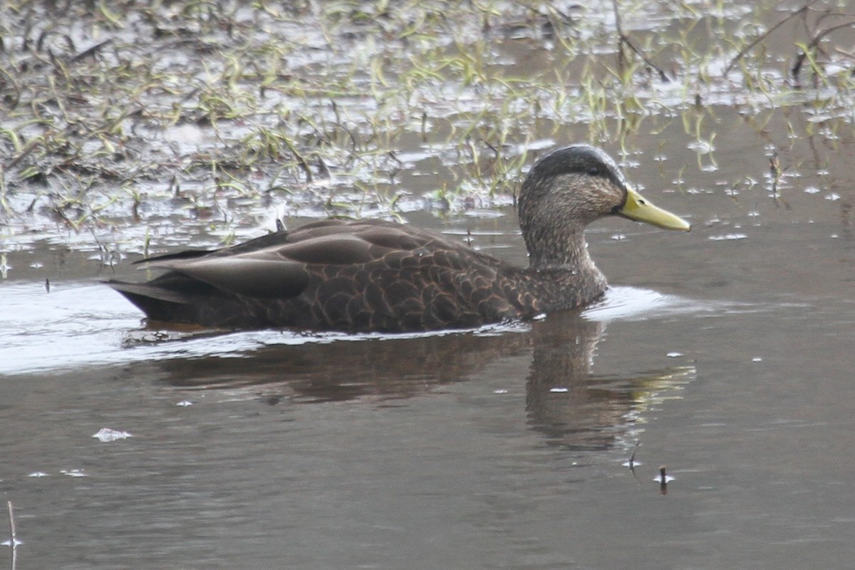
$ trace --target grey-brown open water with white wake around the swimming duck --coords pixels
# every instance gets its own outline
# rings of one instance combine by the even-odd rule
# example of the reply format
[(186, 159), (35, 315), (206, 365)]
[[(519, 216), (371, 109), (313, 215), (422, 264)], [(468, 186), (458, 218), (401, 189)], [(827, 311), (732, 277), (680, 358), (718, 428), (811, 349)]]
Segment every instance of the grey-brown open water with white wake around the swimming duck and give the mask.
[[(139, 277), (128, 260), (112, 273), (85, 233), (18, 234), (0, 262), (17, 567), (844, 567), (852, 129), (792, 138), (796, 115), (755, 128), (716, 108), (714, 167), (680, 120), (640, 129), (629, 178), (693, 231), (596, 224), (609, 293), (533, 323), (149, 330), (97, 283)], [(769, 140), (791, 167), (777, 203)], [(435, 190), (419, 178), (401, 174)], [(407, 218), (522, 264), (516, 218), (498, 211)], [(130, 437), (93, 438), (103, 429)]]

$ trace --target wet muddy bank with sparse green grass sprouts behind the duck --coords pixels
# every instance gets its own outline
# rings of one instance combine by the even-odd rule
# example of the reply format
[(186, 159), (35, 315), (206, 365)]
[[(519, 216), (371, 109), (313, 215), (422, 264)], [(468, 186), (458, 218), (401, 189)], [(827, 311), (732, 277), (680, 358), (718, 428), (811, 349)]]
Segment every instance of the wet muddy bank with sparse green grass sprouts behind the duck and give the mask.
[(720, 106), (757, 132), (852, 132), (853, 26), (819, 0), (9, 0), (0, 244), (490, 208), (527, 152), (588, 141), (631, 166), (674, 123), (686, 167), (714, 169)]

